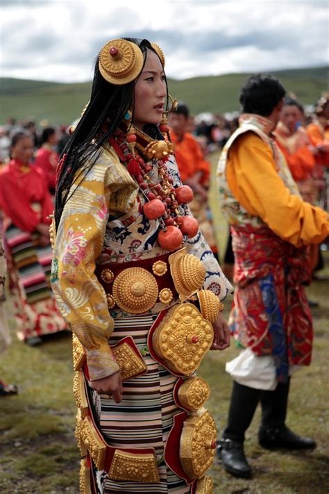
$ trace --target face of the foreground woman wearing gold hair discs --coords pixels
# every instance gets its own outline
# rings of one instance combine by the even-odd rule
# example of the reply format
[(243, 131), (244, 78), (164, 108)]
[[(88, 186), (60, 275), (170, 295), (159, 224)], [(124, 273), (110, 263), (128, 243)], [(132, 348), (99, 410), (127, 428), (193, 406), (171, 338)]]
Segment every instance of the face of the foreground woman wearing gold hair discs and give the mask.
[(133, 124), (140, 129), (144, 124), (160, 124), (166, 95), (165, 73), (160, 59), (148, 50), (144, 69), (135, 85)]

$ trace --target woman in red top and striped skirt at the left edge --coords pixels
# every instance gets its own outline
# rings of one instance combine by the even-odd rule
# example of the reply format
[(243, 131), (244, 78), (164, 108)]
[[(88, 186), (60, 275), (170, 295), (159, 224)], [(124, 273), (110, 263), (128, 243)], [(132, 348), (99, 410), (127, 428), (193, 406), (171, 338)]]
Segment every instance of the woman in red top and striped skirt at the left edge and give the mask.
[(0, 208), (17, 335), (30, 345), (40, 336), (66, 329), (50, 286), (51, 245), (49, 215), (53, 203), (41, 170), (31, 167), (33, 142), (24, 133), (12, 137), (11, 160), (0, 172)]

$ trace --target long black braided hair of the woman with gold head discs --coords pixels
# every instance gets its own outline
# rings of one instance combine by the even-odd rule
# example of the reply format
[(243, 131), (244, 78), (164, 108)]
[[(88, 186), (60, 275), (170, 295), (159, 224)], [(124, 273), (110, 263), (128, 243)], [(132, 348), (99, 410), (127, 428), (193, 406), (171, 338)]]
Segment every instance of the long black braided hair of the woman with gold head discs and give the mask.
[[(133, 42), (140, 47), (144, 56), (143, 67), (146, 62), (146, 51), (151, 50), (156, 53), (148, 40), (137, 38), (122, 39)], [(158, 53), (156, 54), (158, 56)], [(159, 60), (162, 63), (160, 57)], [(62, 165), (62, 170), (60, 170), (57, 177), (58, 184), (55, 202), (56, 227), (58, 227), (60, 222), (65, 203), (71, 197), (69, 196), (69, 190), (74, 179), (81, 177), (82, 181), (83, 176), (91, 170), (101, 152), (101, 148), (108, 142), (119, 124), (124, 120), (124, 116), (129, 109), (132, 111), (133, 120), (134, 89), (137, 79), (138, 76), (135, 81), (123, 85), (115, 85), (106, 81), (99, 71), (99, 56), (97, 56), (90, 102), (69, 142), (67, 142), (65, 149), (62, 151), (62, 156), (66, 154), (66, 157)], [(106, 129), (104, 129), (105, 123)]]

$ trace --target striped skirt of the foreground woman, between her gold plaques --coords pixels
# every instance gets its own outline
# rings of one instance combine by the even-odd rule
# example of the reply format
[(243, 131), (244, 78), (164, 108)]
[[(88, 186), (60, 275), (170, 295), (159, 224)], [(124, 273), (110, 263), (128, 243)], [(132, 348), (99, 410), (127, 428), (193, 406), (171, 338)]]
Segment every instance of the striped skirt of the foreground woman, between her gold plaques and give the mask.
[(178, 379), (155, 362), (147, 349), (147, 335), (156, 315), (133, 316), (115, 320), (109, 340), (116, 345), (125, 336), (132, 336), (143, 355), (148, 372), (124, 381), (121, 403), (107, 395), (99, 395), (89, 388), (94, 419), (106, 442), (115, 447), (154, 447), (160, 482), (145, 484), (113, 481), (104, 470), (94, 468), (98, 494), (185, 494), (190, 492), (183, 479), (177, 477), (164, 461), (164, 447), (178, 409), (173, 389)]

